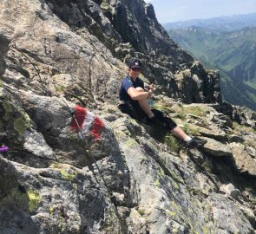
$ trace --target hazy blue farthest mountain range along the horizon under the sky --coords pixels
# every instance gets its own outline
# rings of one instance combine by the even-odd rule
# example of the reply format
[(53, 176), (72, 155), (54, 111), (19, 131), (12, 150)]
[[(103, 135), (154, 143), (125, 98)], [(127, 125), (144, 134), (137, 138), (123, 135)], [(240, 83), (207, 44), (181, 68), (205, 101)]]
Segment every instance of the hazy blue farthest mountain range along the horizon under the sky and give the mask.
[(182, 22), (164, 23), (165, 29), (186, 29), (192, 26), (215, 29), (219, 31), (233, 31), (246, 27), (256, 27), (256, 13), (247, 15), (220, 16), (209, 19), (193, 19)]

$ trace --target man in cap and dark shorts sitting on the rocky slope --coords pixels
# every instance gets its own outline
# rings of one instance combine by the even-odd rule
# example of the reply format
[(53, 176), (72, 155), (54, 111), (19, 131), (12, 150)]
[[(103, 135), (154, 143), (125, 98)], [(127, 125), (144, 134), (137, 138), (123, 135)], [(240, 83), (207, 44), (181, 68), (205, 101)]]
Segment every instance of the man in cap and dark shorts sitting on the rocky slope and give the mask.
[[(161, 111), (151, 109), (148, 99), (153, 94), (153, 86), (144, 88), (144, 82), (138, 77), (141, 73), (141, 62), (138, 59), (132, 60), (129, 64), (129, 72), (121, 82), (119, 105), (121, 112), (129, 114), (132, 118), (139, 121), (146, 121), (149, 124), (157, 125), (161, 122), (167, 130), (171, 131), (177, 138), (184, 140), (187, 147), (194, 148), (207, 143), (207, 140), (191, 138), (181, 127), (178, 127), (172, 119)], [(148, 90), (148, 91), (147, 91)]]

